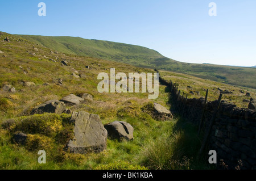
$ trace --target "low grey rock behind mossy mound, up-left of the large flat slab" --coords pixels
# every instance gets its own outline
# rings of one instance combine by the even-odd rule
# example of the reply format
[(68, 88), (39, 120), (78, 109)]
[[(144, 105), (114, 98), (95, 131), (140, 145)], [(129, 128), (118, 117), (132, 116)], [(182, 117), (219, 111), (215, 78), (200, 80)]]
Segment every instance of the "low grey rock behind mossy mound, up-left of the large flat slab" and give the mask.
[(61, 114), (65, 110), (65, 103), (60, 102), (59, 100), (48, 100), (47, 102), (36, 106), (31, 111), (31, 115), (42, 114), (44, 112)]

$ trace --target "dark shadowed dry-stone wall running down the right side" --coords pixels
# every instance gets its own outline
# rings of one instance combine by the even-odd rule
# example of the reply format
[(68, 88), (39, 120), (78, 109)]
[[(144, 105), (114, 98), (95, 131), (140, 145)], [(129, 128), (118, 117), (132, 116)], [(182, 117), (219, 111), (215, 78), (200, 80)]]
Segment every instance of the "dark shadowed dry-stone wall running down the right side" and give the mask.
[[(170, 82), (162, 78), (159, 78), (159, 82), (171, 91), (170, 98), (175, 103), (177, 113), (199, 126), (204, 110), (204, 98), (182, 98), (177, 87), (171, 86)], [(206, 132), (216, 106), (217, 100), (207, 102), (202, 133)], [(256, 169), (256, 111), (221, 101), (210, 130), (207, 148), (216, 150), (217, 163), (222, 159), (230, 170), (236, 169), (240, 160), (240, 169)]]

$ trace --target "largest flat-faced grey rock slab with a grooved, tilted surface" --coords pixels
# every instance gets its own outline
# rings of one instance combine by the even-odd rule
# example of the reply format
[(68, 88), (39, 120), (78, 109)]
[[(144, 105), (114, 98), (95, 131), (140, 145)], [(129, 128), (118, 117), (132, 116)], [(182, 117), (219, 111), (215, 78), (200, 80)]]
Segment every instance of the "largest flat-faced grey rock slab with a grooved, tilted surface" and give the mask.
[(73, 112), (71, 122), (75, 123), (74, 137), (68, 142), (71, 153), (98, 153), (106, 149), (108, 132), (100, 116), (85, 111)]

